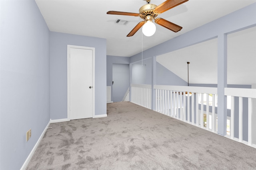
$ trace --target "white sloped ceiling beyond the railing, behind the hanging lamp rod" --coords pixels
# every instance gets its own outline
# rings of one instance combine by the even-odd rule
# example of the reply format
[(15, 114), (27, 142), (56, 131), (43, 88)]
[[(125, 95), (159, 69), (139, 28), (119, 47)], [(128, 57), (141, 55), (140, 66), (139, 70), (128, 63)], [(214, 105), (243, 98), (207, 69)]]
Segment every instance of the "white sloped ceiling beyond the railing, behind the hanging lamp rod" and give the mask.
[[(256, 84), (256, 27), (228, 34), (227, 44), (228, 84)], [(217, 45), (212, 39), (159, 55), (156, 61), (186, 82), (189, 70), (191, 84), (217, 84)]]

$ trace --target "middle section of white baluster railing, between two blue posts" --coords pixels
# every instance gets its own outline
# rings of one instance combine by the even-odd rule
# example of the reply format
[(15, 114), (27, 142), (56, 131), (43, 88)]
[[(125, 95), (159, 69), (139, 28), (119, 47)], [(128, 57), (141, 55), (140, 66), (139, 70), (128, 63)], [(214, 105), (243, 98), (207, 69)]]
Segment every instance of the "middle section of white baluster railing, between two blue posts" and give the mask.
[[(155, 111), (216, 133), (215, 96), (217, 88), (154, 85), (154, 89), (156, 92)], [(209, 94), (212, 97), (211, 104)], [(205, 114), (204, 103), (206, 103)], [(201, 104), (200, 108), (199, 104)], [(209, 109), (210, 105), (212, 105), (212, 112)], [(204, 115), (206, 115), (206, 125)]]

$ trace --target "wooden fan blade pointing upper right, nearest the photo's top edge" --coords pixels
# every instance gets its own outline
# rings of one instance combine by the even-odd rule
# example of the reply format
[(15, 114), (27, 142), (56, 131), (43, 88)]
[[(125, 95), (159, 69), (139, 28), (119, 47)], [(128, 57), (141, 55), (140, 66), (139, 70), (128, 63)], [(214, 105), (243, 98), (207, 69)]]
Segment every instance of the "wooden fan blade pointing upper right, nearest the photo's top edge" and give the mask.
[(174, 8), (175, 6), (178, 6), (180, 4), (183, 4), (184, 2), (187, 2), (188, 0), (166, 0), (162, 4), (158, 5), (153, 12), (155, 14), (161, 14), (163, 12), (166, 12), (167, 10), (170, 10), (171, 8)]

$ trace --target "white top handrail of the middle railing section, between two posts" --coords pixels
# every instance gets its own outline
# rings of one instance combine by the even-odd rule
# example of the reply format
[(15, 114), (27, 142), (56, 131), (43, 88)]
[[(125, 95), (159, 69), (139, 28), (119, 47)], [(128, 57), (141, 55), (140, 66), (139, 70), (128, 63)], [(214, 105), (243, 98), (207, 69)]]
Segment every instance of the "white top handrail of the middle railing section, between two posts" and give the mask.
[(216, 87), (154, 85), (154, 89), (173, 90), (173, 91), (181, 91), (181, 92), (206, 93), (206, 94), (217, 94), (217, 88)]

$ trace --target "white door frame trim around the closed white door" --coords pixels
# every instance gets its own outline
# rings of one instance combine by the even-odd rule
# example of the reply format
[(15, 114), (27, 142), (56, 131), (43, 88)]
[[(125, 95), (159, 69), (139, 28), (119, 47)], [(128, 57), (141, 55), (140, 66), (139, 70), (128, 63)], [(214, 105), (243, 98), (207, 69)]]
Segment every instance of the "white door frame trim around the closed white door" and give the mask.
[(92, 50), (92, 117), (95, 117), (95, 48), (94, 47), (83, 47), (83, 46), (76, 46), (76, 45), (68, 45), (68, 55), (67, 55), (67, 60), (68, 60), (68, 121), (70, 121), (70, 48), (77, 48), (77, 49), (88, 49)]

